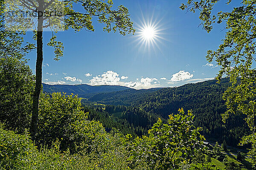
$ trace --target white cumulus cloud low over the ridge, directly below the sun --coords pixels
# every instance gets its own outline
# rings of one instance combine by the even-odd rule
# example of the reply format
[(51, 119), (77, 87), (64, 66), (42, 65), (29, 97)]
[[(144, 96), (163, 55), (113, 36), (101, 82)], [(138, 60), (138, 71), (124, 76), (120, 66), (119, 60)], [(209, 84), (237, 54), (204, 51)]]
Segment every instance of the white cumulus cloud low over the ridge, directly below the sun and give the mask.
[(153, 88), (154, 85), (157, 84), (157, 79), (156, 78), (141, 78), (140, 80), (137, 79), (136, 82), (125, 82), (125, 86), (130, 87), (130, 88), (135, 88), (135, 89), (140, 89), (140, 88)]

